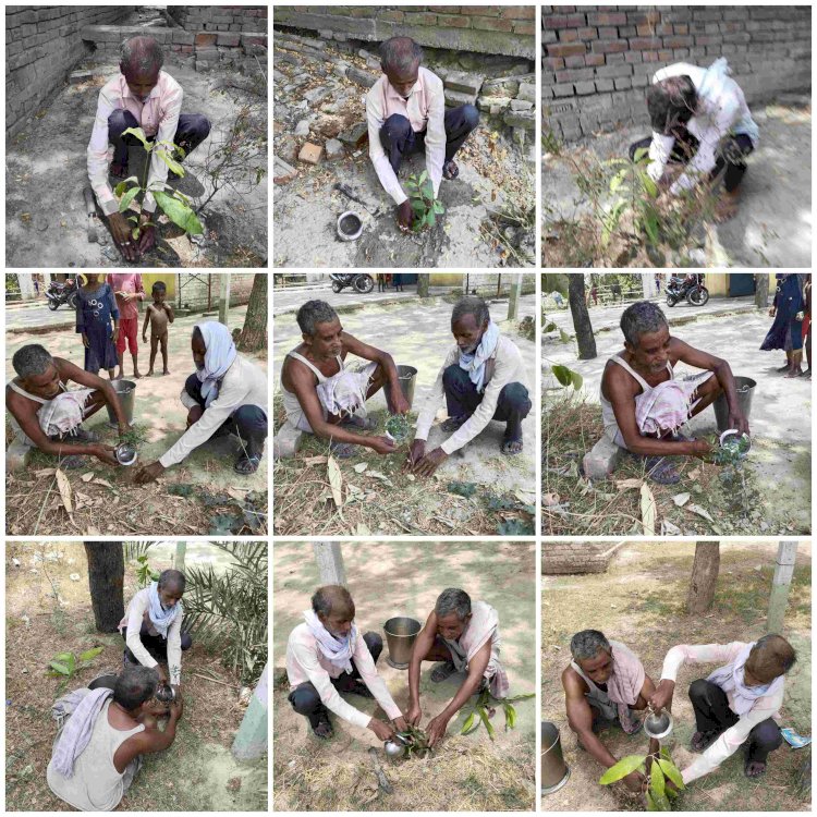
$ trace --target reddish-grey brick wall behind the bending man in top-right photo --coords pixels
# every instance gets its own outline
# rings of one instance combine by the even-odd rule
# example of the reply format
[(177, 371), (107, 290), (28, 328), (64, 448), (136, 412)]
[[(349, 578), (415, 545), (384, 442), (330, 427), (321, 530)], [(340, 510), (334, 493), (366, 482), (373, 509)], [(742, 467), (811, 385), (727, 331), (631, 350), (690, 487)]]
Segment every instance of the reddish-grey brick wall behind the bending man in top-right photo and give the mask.
[(568, 142), (649, 126), (645, 88), (673, 62), (725, 57), (749, 106), (810, 89), (808, 5), (545, 5), (545, 132)]

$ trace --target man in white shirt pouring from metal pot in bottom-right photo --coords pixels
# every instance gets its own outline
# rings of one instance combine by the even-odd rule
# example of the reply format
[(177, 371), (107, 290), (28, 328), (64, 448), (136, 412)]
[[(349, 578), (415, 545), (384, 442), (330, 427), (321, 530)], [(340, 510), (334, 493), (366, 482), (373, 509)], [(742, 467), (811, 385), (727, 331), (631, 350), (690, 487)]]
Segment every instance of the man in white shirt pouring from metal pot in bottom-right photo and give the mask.
[(770, 633), (756, 642), (681, 644), (663, 659), (661, 681), (649, 703), (656, 711), (672, 706), (678, 671), (684, 663), (723, 663), (690, 685), (696, 732), (692, 751), (703, 753), (682, 770), (684, 784), (720, 766), (745, 746), (744, 775), (756, 778), (783, 742), (775, 719), (783, 705), (785, 673), (797, 656), (785, 638)]

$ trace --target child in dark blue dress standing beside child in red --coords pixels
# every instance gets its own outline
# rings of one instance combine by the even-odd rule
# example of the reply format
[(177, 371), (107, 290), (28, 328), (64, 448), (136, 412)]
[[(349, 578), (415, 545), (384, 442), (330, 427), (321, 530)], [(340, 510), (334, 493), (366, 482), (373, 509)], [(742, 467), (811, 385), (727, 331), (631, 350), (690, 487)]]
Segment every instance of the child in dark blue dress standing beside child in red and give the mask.
[(99, 273), (82, 272), (80, 278), (83, 285), (77, 290), (76, 331), (85, 346), (84, 368), (95, 375), (99, 369), (108, 369), (108, 377), (113, 380), (119, 334), (117, 298), (110, 285), (99, 281)]

